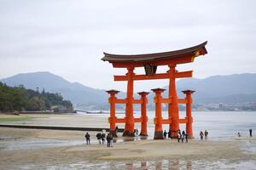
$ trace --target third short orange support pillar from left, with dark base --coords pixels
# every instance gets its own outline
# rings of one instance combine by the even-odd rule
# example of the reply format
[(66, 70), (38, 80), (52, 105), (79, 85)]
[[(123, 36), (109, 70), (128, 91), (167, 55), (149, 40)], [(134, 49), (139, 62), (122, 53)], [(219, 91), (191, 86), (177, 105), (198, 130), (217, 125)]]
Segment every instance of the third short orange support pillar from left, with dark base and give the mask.
[(155, 117), (154, 117), (154, 139), (164, 139), (163, 129), (162, 129), (162, 96), (166, 89), (163, 88), (154, 88), (152, 91), (154, 92), (154, 103), (155, 103)]

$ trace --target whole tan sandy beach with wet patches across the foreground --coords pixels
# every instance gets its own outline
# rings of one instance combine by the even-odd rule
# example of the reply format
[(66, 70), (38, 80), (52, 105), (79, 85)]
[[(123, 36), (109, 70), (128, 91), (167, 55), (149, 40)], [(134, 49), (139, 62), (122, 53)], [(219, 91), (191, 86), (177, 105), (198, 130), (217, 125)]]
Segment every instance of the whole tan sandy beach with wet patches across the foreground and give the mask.
[[(61, 117), (62, 120), (66, 120), (68, 116), (33, 115), (33, 117), (36, 118), (27, 119), (26, 123), (46, 121), (50, 124), (51, 121), (55, 122)], [(87, 121), (96, 120), (93, 116), (89, 117), (91, 119), (88, 118)], [(105, 119), (106, 117), (98, 118), (97, 126), (105, 126)], [(75, 118), (71, 122), (76, 122)], [(201, 161), (209, 162), (210, 167), (211, 164), (214, 167), (216, 162), (223, 161), (228, 165), (247, 162), (253, 166), (256, 163), (255, 137), (234, 137), (224, 141), (190, 139), (189, 143), (177, 143), (176, 139), (153, 140), (139, 137), (134, 141), (127, 141), (119, 134), (118, 142), (114, 143), (113, 147), (107, 148), (106, 144), (97, 143), (96, 132), (90, 132), (90, 135), (91, 144), (87, 145), (84, 141), (84, 132), (81, 131), (1, 127), (0, 167), (1, 169), (34, 169), (35, 166), (40, 166), (42, 167), (40, 169), (52, 167), (65, 169), (75, 165), (78, 169), (93, 169), (102, 165), (102, 169), (137, 169), (137, 167), (165, 169), (166, 166), (170, 169), (178, 169), (177, 164), (180, 164), (179, 167), (191, 169), (207, 166), (205, 163), (200, 163)], [(15, 144), (19, 147), (15, 147)]]

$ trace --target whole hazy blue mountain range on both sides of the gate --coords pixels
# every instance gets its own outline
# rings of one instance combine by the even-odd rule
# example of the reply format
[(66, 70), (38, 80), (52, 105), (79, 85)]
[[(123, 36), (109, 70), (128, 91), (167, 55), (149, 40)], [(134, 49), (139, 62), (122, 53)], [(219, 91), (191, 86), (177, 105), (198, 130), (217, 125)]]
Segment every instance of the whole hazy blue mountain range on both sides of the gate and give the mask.
[[(108, 108), (108, 94), (105, 90), (89, 88), (79, 82), (68, 82), (49, 72), (18, 74), (0, 82), (5, 82), (9, 86), (23, 84), (25, 88), (39, 88), (39, 91), (44, 88), (45, 91), (60, 93), (74, 105)], [(167, 86), (164, 88), (168, 89)], [(213, 76), (205, 79), (185, 78), (177, 81), (177, 94), (180, 98), (184, 97), (181, 91), (185, 89), (196, 91), (193, 94), (195, 104), (256, 102), (256, 74)], [(166, 90), (164, 96), (167, 94)], [(153, 95), (148, 96), (149, 104), (152, 103)], [(125, 94), (120, 93), (119, 97), (125, 98)]]

